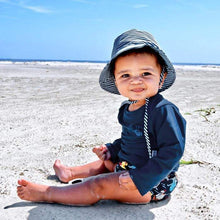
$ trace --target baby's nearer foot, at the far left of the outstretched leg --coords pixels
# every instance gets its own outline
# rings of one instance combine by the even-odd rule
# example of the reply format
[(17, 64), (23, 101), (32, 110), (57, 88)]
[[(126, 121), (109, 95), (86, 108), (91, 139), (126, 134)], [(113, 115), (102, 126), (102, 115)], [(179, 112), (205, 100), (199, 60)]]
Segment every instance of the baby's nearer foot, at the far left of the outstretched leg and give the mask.
[(17, 194), (20, 199), (32, 202), (46, 201), (46, 192), (48, 186), (39, 185), (28, 182), (26, 180), (18, 180), (20, 186), (17, 187)]

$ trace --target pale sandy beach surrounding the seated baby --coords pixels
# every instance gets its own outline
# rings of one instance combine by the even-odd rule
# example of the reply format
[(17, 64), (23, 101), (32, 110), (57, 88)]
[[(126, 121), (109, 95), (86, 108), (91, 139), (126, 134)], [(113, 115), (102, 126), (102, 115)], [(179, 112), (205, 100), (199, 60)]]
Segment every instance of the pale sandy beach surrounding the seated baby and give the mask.
[(99, 88), (103, 66), (0, 62), (0, 219), (220, 219), (219, 66), (176, 66), (176, 83), (163, 92), (187, 120), (183, 159), (204, 162), (180, 167), (169, 201), (73, 207), (17, 197), (18, 179), (63, 185), (54, 176), (55, 159), (91, 162), (94, 145), (120, 136), (124, 99)]

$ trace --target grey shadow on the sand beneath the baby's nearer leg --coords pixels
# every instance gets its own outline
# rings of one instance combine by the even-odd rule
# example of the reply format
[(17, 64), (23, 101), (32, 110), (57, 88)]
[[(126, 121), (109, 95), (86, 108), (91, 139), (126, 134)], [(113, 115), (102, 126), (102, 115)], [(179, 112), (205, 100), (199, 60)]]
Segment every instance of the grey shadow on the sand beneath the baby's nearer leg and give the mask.
[(128, 205), (116, 201), (103, 200), (92, 206), (67, 206), (50, 203), (18, 202), (4, 209), (35, 206), (29, 210), (29, 220), (49, 219), (154, 219), (151, 209), (162, 207), (169, 203), (167, 199), (147, 205)]

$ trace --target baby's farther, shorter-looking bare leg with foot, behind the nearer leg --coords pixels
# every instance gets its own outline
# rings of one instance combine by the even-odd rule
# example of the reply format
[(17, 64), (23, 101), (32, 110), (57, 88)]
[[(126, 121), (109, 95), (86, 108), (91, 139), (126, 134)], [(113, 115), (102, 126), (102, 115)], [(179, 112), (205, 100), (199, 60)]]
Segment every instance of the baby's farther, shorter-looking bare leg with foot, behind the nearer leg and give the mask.
[(112, 172), (114, 170), (114, 164), (109, 160), (104, 162), (98, 160), (82, 166), (67, 167), (63, 165), (60, 160), (56, 160), (53, 168), (60, 181), (69, 182), (75, 178), (85, 178), (101, 173)]

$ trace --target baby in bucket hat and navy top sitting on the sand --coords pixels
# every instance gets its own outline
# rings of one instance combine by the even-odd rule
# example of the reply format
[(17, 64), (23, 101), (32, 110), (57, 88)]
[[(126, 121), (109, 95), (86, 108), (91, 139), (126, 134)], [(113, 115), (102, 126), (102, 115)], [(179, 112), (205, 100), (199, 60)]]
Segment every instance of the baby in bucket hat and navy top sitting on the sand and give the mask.
[(175, 70), (153, 36), (129, 30), (115, 39), (100, 86), (128, 99), (118, 121), (121, 137), (95, 147), (99, 160), (54, 170), (60, 181), (85, 178), (64, 187), (19, 180), (23, 200), (90, 205), (99, 200), (149, 203), (168, 198), (177, 185), (176, 171), (185, 146), (186, 122), (178, 108), (160, 94), (175, 81)]

